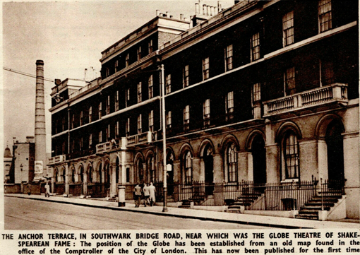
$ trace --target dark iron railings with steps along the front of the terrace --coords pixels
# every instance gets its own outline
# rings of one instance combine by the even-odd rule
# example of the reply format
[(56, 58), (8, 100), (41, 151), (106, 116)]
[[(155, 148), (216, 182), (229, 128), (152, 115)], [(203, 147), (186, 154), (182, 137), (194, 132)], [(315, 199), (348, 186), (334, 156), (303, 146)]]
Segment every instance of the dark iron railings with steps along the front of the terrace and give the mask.
[[(162, 182), (155, 184), (157, 201), (163, 201)], [(253, 182), (223, 182), (208, 184), (168, 184), (169, 198), (174, 202), (193, 201), (199, 206), (232, 205), (242, 201), (246, 210), (299, 210), (313, 196), (344, 194), (344, 181), (318, 182), (290, 181), (282, 183), (254, 184)]]

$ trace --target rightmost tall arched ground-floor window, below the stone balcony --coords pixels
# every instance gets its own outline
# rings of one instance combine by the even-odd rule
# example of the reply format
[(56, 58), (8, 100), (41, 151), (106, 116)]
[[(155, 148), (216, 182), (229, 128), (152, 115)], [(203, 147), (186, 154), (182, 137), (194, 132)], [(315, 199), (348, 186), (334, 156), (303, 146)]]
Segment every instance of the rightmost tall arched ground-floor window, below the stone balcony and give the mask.
[(299, 178), (299, 143), (293, 131), (284, 136), (283, 155), (285, 178)]

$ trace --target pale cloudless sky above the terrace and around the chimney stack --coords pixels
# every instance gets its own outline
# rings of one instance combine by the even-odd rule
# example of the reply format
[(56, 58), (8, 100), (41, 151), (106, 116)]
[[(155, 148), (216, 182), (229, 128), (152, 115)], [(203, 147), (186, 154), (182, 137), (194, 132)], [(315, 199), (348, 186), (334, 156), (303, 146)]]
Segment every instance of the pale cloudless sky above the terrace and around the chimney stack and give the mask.
[[(0, 87), (0, 145), (13, 146), (13, 137), (25, 142), (35, 133), (37, 59), (44, 61), (44, 78), (84, 78), (85, 69), (100, 75), (101, 52), (156, 16), (156, 10), (189, 20), (198, 0), (178, 1), (31, 1), (2, 3), (2, 59)], [(221, 1), (228, 8), (234, 1)], [(202, 0), (217, 6), (217, 1)], [(51, 88), (44, 81), (47, 153), (51, 153)], [(2, 108), (1, 108), (2, 107)], [(1, 140), (2, 139), (2, 140)], [(4, 148), (3, 151), (4, 152)]]

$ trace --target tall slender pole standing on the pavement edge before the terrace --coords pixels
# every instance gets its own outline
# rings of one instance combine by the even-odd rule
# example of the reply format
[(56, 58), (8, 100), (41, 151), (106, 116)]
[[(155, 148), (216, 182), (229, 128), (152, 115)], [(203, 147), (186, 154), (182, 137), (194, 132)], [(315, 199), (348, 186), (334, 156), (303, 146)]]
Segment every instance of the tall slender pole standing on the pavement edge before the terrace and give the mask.
[(166, 136), (167, 136), (167, 130), (166, 130), (166, 119), (165, 119), (165, 85), (164, 85), (164, 64), (159, 66), (160, 68), (160, 82), (161, 82), (161, 93), (162, 93), (162, 168), (164, 171), (164, 207), (162, 208), (163, 212), (167, 212), (167, 142), (166, 142)]

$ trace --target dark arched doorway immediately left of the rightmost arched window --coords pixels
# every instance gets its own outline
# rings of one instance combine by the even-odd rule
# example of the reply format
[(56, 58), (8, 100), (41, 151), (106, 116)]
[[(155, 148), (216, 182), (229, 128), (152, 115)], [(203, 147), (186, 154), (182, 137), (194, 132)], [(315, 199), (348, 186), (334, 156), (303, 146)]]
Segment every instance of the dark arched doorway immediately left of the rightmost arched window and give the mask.
[(254, 185), (266, 183), (266, 150), (265, 141), (259, 134), (253, 138), (251, 143), (251, 154), (253, 155), (253, 183)]

